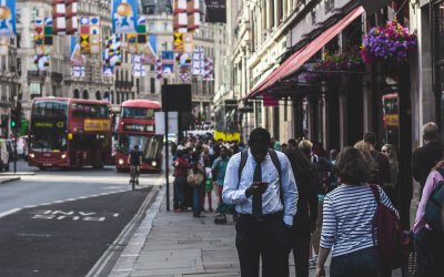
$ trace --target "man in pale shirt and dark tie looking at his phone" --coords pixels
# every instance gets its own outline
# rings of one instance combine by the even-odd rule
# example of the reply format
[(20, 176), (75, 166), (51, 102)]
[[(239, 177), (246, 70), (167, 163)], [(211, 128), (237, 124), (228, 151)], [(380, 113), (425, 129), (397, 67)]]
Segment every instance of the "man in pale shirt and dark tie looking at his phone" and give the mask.
[[(244, 167), (242, 153), (233, 155), (226, 166), (222, 198), (235, 204), (239, 213), (235, 245), (242, 277), (258, 277), (260, 259), (263, 277), (283, 276), (286, 233), (297, 209), (297, 187), (289, 158), (269, 150), (270, 142), (265, 129), (254, 129), (250, 148), (243, 154), (248, 154)], [(275, 163), (281, 168), (275, 168)]]

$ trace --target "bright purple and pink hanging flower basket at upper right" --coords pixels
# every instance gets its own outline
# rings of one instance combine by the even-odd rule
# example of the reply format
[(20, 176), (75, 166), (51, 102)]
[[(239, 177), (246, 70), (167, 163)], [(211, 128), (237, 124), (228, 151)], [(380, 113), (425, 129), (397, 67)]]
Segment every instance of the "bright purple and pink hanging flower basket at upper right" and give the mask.
[(390, 66), (408, 63), (410, 54), (416, 52), (416, 33), (410, 33), (396, 18), (383, 27), (373, 28), (364, 37), (361, 55), (366, 63), (382, 62)]

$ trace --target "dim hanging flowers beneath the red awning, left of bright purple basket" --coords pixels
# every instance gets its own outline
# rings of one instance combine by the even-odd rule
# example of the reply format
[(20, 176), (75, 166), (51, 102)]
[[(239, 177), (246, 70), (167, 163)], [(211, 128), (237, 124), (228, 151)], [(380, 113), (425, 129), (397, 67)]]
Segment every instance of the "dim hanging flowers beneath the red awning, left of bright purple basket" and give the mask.
[(337, 75), (336, 72), (340, 71), (363, 71), (363, 65), (364, 62), (356, 48), (349, 49), (342, 53), (331, 54), (326, 52), (323, 60), (311, 64), (304, 74), (304, 79), (306, 82), (327, 80)]

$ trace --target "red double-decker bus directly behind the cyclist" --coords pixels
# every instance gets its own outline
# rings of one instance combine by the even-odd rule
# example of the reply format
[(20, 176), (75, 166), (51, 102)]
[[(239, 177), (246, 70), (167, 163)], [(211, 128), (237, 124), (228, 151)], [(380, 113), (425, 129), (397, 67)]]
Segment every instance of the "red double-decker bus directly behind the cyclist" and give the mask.
[(160, 171), (162, 136), (155, 135), (155, 116), (161, 105), (150, 100), (128, 100), (122, 103), (115, 145), (118, 172), (129, 170), (128, 155), (134, 145), (142, 151), (142, 170)]

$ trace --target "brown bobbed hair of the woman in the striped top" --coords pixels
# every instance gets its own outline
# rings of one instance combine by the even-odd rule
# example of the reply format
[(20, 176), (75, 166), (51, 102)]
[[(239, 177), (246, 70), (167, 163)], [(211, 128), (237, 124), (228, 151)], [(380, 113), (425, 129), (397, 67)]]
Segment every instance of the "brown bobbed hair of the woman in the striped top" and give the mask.
[(345, 147), (337, 155), (334, 172), (342, 183), (361, 185), (372, 178), (371, 165), (361, 152), (354, 147)]

